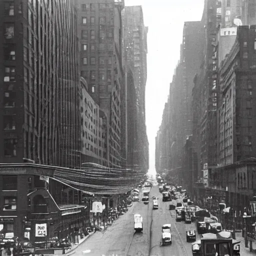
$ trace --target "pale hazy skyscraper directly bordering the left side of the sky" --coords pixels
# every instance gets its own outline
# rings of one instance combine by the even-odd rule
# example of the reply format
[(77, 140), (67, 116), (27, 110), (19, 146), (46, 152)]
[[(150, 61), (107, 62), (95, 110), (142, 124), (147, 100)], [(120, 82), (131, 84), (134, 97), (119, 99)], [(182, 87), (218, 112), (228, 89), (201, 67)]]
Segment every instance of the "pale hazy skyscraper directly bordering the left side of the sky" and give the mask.
[[(123, 14), (124, 54), (126, 71), (133, 77), (135, 88), (135, 143), (133, 149), (134, 166), (148, 169), (148, 140), (145, 126), (145, 85), (147, 31), (141, 6), (125, 6)], [(128, 69), (131, 71), (129, 72)], [(131, 85), (131, 84), (130, 84)], [(127, 88), (130, 89), (130, 88)], [(129, 129), (129, 127), (128, 127)], [(128, 141), (130, 142), (130, 141)], [(129, 147), (130, 148), (130, 147)]]

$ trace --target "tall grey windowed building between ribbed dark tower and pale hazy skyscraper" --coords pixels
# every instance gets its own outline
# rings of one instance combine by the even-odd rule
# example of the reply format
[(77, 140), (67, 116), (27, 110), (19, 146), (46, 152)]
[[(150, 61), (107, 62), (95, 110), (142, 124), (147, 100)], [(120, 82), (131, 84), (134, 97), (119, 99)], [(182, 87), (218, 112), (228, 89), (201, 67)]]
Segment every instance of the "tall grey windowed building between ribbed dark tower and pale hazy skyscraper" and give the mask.
[(121, 63), (121, 10), (123, 0), (79, 0), (77, 32), (80, 38), (81, 76), (106, 116), (107, 165), (119, 166)]

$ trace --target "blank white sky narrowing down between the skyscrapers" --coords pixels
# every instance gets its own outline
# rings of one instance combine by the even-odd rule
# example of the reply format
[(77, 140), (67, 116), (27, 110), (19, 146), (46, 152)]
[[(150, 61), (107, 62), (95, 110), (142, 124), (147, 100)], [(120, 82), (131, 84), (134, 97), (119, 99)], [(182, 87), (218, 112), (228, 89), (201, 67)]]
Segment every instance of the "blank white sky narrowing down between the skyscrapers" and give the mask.
[(155, 136), (161, 124), (174, 68), (179, 60), (184, 21), (201, 20), (203, 0), (124, 0), (142, 5), (147, 34), (146, 127), (149, 172), (155, 170)]

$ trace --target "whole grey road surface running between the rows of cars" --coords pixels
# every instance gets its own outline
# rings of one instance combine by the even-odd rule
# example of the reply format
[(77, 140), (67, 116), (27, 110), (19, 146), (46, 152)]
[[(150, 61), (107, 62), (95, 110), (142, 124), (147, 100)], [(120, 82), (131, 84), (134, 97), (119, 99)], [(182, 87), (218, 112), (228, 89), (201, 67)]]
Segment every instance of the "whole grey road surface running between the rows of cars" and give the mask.
[[(152, 196), (158, 196), (158, 209), (153, 210)], [(140, 198), (142, 193), (140, 193)], [(149, 194), (149, 204), (133, 202), (128, 211), (116, 219), (105, 231), (97, 231), (74, 251), (77, 256), (190, 256), (191, 243), (186, 242), (185, 230), (195, 229), (195, 224), (175, 221), (175, 210), (169, 210), (170, 202), (162, 202), (158, 186)], [(133, 214), (143, 217), (143, 231), (134, 232)], [(172, 244), (161, 245), (161, 226), (171, 224)], [(197, 235), (197, 234), (196, 234)]]

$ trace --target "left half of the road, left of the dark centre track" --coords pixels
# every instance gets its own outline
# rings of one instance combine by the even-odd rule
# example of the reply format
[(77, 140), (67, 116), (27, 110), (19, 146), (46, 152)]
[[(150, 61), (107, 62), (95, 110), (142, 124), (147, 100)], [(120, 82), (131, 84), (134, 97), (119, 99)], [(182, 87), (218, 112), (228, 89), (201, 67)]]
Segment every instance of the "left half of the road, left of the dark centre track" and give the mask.
[[(155, 190), (156, 191), (156, 190)], [(151, 195), (150, 195), (151, 196)], [(142, 198), (142, 193), (139, 195)], [(133, 214), (143, 218), (143, 232), (134, 233)], [(75, 255), (148, 255), (152, 202), (133, 202), (105, 231), (97, 231), (75, 249)]]

